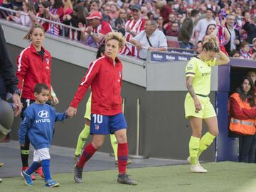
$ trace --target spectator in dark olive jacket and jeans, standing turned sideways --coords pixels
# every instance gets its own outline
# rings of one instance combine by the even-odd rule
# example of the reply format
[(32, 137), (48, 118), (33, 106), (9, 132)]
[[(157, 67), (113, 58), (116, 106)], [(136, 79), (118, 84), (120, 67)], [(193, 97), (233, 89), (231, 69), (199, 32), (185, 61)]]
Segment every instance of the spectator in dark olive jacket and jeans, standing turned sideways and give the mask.
[(193, 44), (189, 43), (189, 40), (191, 39), (194, 23), (198, 20), (198, 14), (199, 11), (193, 9), (191, 11), (191, 18), (186, 18), (183, 21), (181, 30), (178, 33), (178, 44), (181, 48), (191, 49), (193, 47)]

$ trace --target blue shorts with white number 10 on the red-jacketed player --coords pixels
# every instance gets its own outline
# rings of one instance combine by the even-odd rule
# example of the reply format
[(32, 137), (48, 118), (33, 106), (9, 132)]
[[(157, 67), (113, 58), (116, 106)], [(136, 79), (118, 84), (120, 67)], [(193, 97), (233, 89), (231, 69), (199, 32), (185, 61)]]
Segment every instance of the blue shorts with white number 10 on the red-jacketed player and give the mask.
[(110, 116), (91, 114), (90, 134), (92, 135), (110, 135), (126, 128), (127, 123), (123, 113)]

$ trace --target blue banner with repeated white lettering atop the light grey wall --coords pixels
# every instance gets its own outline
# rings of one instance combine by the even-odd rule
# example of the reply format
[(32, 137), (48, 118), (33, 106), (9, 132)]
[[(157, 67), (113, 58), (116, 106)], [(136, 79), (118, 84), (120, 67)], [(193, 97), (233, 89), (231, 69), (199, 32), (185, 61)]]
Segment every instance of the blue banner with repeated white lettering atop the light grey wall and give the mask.
[(188, 61), (193, 56), (176, 52), (150, 52), (150, 62)]

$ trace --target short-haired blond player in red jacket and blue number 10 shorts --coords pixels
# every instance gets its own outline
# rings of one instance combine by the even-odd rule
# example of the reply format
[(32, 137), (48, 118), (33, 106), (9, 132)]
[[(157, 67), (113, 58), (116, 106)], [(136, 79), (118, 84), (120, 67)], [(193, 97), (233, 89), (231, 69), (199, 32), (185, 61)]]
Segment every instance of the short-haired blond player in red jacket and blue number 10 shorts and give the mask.
[(73, 117), (76, 114), (78, 104), (91, 86), (90, 134), (93, 135), (93, 138), (92, 142), (85, 147), (78, 164), (75, 166), (74, 179), (77, 183), (82, 182), (82, 169), (85, 162), (102, 146), (105, 135), (114, 133), (118, 142), (119, 175), (117, 182), (136, 185), (137, 183), (126, 174), (128, 159), (127, 123), (122, 114), (122, 62), (117, 57), (120, 48), (125, 43), (125, 38), (118, 32), (111, 32), (106, 35), (105, 41), (105, 56), (90, 64), (67, 110), (68, 115)]

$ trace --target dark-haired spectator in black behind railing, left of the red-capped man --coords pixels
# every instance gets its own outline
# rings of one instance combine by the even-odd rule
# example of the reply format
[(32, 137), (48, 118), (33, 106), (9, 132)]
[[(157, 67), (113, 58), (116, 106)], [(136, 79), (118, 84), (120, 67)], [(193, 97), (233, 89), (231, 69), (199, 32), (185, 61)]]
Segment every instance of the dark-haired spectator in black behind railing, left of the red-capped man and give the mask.
[[(65, 15), (63, 16), (63, 23), (68, 26), (73, 26), (75, 28), (78, 28), (78, 23), (82, 23), (82, 25), (85, 25), (85, 9), (82, 5), (76, 5), (74, 7), (73, 13), (71, 15)], [(77, 30), (68, 30), (68, 33), (66, 34), (67, 37), (73, 40), (80, 40), (81, 32)]]

